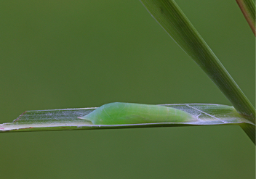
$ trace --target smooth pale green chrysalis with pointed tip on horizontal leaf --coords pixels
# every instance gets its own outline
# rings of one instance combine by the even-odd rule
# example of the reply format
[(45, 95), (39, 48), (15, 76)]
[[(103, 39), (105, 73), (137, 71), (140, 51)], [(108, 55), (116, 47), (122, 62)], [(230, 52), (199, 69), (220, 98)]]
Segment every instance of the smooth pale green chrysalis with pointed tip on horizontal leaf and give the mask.
[(79, 118), (90, 120), (94, 125), (196, 121), (196, 117), (180, 109), (152, 104), (120, 102), (104, 104), (88, 115)]

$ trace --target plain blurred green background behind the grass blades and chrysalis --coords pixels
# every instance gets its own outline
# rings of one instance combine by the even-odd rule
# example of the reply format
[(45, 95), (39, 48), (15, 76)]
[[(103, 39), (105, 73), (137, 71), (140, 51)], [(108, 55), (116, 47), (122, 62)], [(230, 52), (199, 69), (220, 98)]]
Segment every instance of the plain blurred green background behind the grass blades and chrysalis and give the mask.
[[(255, 104), (255, 37), (235, 1), (183, 9)], [(229, 101), (139, 0), (0, 3), (0, 123), (25, 110)], [(238, 126), (0, 133), (1, 178), (255, 178)]]

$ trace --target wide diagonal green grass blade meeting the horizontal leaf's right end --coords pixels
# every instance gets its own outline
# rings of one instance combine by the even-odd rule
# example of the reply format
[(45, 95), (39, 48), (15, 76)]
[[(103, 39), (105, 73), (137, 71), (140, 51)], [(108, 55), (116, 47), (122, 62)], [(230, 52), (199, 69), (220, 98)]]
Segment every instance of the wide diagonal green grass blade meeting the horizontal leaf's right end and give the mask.
[(255, 108), (173, 0), (140, 0), (173, 40), (204, 70), (240, 115), (255, 123)]

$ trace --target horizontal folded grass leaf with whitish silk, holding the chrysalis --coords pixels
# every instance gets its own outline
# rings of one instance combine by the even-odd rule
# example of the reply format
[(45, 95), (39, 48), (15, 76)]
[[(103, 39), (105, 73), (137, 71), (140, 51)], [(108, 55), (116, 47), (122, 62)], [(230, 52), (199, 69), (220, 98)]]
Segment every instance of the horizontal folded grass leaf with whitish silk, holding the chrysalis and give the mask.
[[(155, 122), (129, 125), (92, 125), (78, 117), (88, 115), (96, 108), (54, 109), (26, 111), (10, 123), (0, 124), (0, 132), (39, 130), (89, 130), (111, 128), (156, 128), (204, 125), (240, 125), (255, 142), (255, 124), (241, 117), (231, 106), (220, 104), (162, 104), (180, 109), (196, 117), (194, 122)], [(254, 129), (254, 130), (253, 130)], [(253, 138), (254, 133), (254, 138)]]

